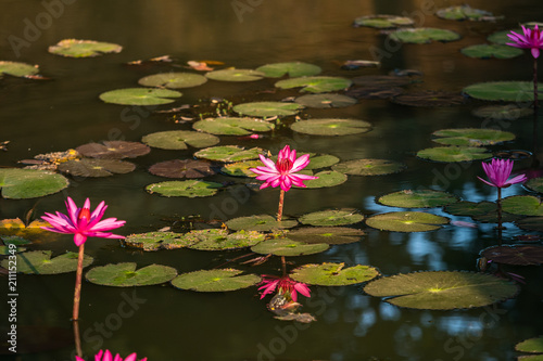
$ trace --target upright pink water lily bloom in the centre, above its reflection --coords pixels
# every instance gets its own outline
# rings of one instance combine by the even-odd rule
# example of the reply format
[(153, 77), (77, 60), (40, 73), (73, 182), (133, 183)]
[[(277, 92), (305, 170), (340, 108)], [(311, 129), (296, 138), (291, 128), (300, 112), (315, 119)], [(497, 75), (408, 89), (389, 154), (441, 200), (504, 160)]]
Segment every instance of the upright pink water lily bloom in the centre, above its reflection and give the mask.
[(251, 168), (250, 170), (258, 175), (258, 177), (256, 177), (257, 180), (264, 181), (261, 185), (261, 190), (270, 185), (273, 188), (280, 185), (281, 190), (287, 192), (290, 190), (292, 184), (305, 188), (303, 181), (318, 178), (295, 173), (296, 171), (307, 167), (310, 164), (310, 155), (305, 154), (296, 158), (296, 151), (290, 151), (289, 145), (285, 145), (285, 147), (279, 152), (276, 163), (264, 157), (262, 154), (260, 157), (265, 167)]

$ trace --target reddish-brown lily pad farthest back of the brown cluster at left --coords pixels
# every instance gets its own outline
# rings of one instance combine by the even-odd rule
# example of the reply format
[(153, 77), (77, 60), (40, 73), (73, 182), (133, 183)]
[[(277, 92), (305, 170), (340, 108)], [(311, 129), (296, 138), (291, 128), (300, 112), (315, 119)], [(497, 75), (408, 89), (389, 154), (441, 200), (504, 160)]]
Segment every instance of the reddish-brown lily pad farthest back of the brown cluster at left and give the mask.
[(140, 142), (104, 141), (79, 145), (76, 151), (91, 158), (123, 159), (136, 158), (151, 152), (151, 149)]

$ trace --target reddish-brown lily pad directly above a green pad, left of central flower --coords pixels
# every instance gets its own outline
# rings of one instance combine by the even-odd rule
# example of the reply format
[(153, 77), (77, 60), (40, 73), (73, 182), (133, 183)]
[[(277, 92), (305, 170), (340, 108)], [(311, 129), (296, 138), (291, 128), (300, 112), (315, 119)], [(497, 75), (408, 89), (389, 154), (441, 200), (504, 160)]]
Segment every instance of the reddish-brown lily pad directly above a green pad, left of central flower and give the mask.
[(156, 163), (149, 168), (149, 172), (167, 178), (203, 178), (215, 175), (209, 162), (192, 159)]

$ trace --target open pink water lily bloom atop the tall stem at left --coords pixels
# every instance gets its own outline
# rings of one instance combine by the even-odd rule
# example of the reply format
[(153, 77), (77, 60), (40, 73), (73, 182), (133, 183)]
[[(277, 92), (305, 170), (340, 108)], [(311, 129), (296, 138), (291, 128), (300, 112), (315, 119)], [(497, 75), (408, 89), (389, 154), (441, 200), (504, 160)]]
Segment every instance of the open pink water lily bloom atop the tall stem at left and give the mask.
[(125, 224), (125, 221), (116, 218), (100, 220), (108, 208), (103, 201), (92, 214), (90, 214), (89, 198), (85, 201), (83, 208), (78, 208), (74, 201), (67, 197), (66, 208), (68, 216), (59, 211), (56, 211), (56, 216), (46, 212), (46, 216), (41, 218), (48, 221), (51, 227), (42, 227), (42, 229), (56, 233), (74, 234), (76, 246), (84, 244), (87, 237), (124, 238), (122, 235), (103, 232)]

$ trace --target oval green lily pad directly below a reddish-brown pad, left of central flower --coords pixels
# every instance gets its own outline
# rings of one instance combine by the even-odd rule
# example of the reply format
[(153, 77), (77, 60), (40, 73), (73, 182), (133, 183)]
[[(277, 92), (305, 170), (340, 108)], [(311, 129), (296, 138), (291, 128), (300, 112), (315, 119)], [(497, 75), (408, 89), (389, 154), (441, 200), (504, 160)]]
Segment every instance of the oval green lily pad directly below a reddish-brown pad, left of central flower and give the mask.
[(149, 193), (159, 193), (166, 197), (209, 197), (215, 195), (223, 188), (222, 183), (202, 180), (167, 181), (146, 186)]

